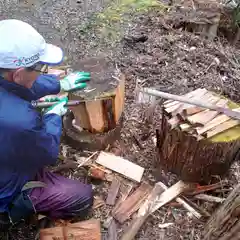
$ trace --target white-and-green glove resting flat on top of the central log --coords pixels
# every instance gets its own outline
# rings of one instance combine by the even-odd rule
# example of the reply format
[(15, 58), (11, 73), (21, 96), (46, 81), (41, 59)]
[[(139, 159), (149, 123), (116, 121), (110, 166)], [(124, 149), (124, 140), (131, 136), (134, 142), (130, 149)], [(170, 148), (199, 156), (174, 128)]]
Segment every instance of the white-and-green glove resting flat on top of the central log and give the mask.
[(61, 90), (68, 92), (72, 90), (82, 89), (87, 86), (86, 82), (90, 80), (88, 72), (73, 72), (60, 80)]

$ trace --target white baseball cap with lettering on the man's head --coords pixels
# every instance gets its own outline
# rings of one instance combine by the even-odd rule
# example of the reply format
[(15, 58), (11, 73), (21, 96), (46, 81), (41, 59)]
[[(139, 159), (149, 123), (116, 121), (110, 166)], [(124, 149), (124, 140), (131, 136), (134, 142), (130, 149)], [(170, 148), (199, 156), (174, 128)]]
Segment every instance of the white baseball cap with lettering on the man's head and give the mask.
[(16, 19), (0, 21), (0, 68), (30, 67), (37, 62), (57, 65), (62, 60), (62, 49), (47, 44), (28, 23)]

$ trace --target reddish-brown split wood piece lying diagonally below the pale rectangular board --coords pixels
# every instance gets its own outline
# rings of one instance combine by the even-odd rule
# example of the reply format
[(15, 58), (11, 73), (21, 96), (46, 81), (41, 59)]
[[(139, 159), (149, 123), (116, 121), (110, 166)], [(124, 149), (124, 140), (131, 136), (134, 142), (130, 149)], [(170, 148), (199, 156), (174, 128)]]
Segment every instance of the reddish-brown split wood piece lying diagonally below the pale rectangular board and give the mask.
[(152, 187), (147, 183), (142, 183), (139, 188), (129, 196), (120, 206), (112, 212), (113, 217), (120, 223), (124, 223), (135, 213), (145, 201)]

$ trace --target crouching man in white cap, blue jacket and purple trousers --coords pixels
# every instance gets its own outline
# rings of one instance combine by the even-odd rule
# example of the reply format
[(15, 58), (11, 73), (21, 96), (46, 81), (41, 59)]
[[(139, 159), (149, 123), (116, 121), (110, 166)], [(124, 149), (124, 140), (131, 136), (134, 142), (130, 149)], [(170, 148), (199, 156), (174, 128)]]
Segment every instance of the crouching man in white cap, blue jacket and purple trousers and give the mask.
[(44, 114), (30, 103), (82, 84), (46, 74), (48, 65), (62, 62), (63, 52), (29, 24), (0, 21), (0, 36), (0, 223), (36, 212), (84, 217), (93, 202), (91, 186), (44, 170), (58, 157), (67, 98)]

